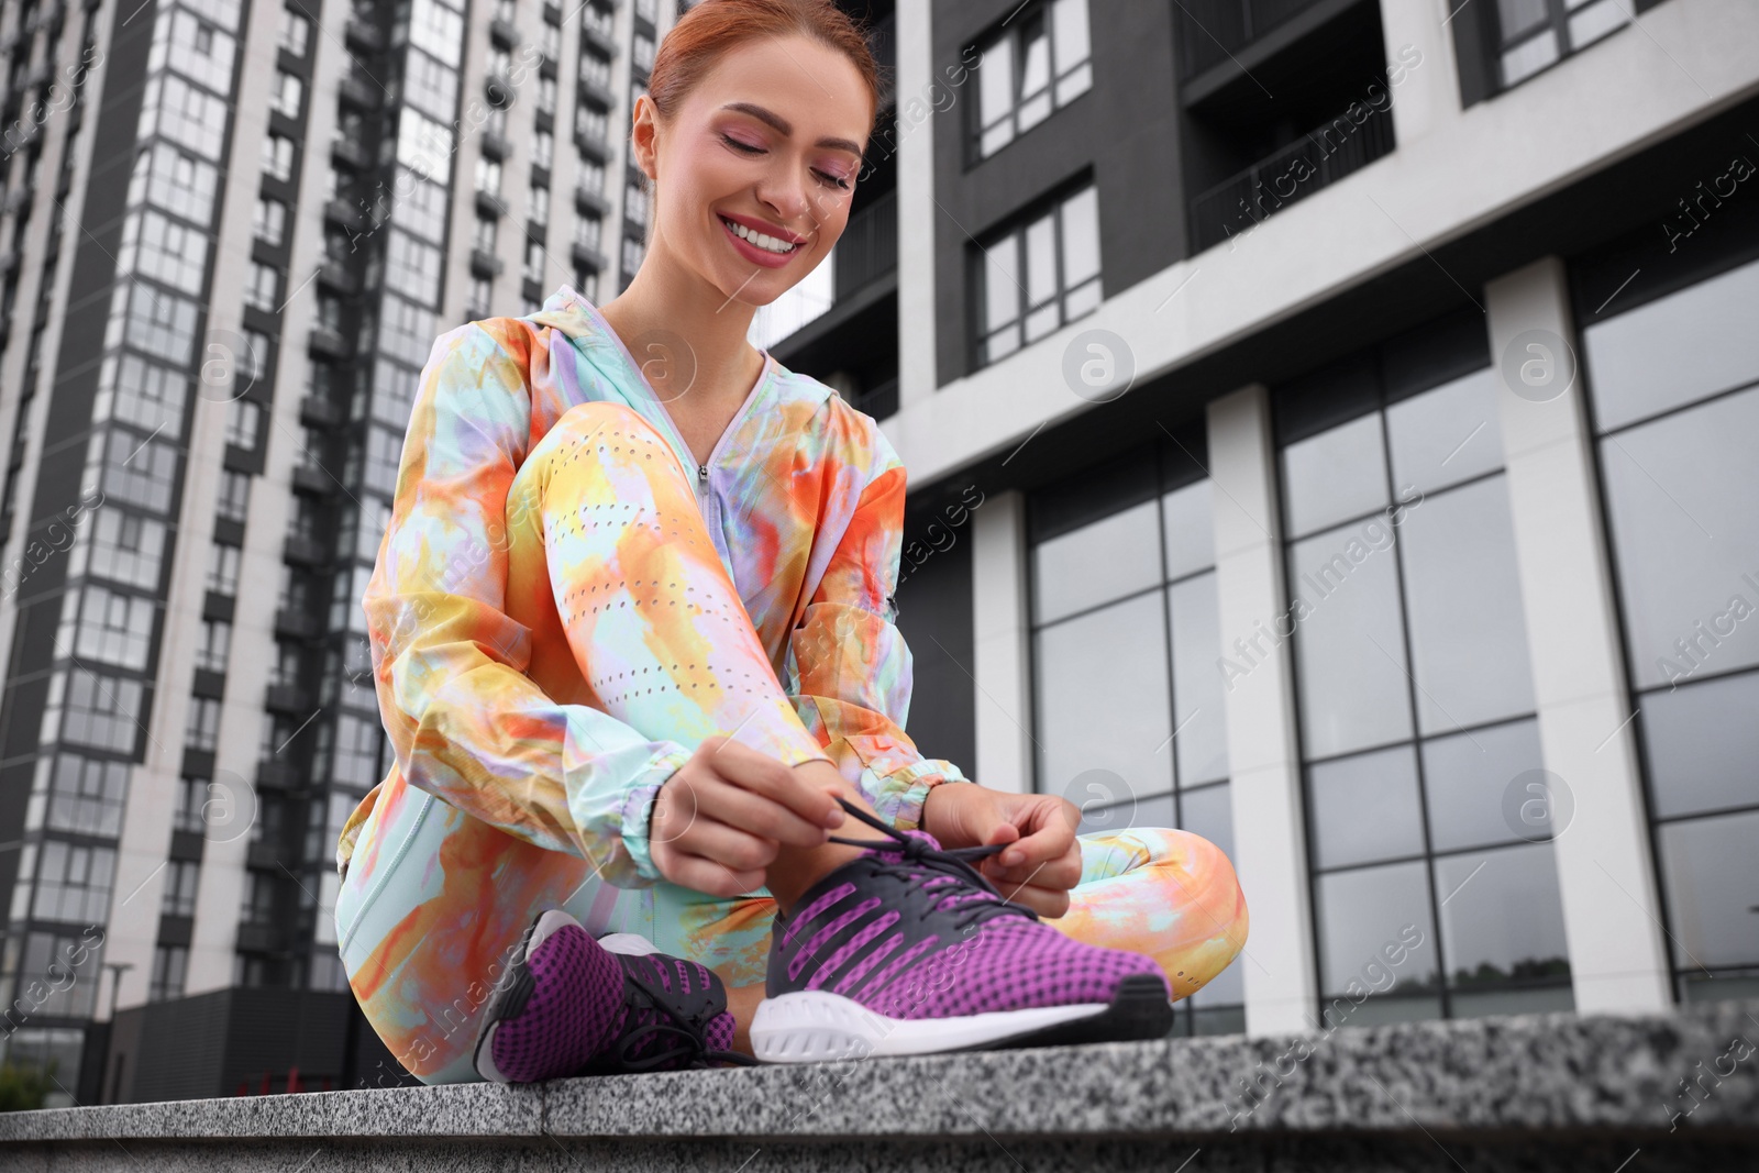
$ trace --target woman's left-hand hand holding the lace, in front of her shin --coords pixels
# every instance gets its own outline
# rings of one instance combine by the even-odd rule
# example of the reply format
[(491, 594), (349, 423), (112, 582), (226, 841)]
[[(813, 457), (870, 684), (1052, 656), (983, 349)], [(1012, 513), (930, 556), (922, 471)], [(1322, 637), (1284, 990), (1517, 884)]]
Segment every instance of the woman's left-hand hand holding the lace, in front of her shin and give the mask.
[(783, 844), (821, 846), (843, 807), (813, 774), (725, 737), (709, 737), (665, 781), (647, 821), (660, 874), (735, 897), (763, 886)]

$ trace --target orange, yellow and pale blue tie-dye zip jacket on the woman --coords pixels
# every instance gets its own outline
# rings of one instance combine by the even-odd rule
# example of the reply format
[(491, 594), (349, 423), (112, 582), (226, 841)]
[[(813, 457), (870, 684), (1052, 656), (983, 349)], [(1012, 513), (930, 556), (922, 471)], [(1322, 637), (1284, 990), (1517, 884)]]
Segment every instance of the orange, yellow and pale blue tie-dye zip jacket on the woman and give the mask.
[[(529, 630), (501, 610), (514, 475), (563, 412), (595, 399), (628, 404), (684, 468), (697, 466), (623, 341), (572, 288), (524, 318), (473, 322), (434, 343), (361, 600), (396, 761), (343, 825), (338, 871), (401, 772), (536, 846), (595, 862), (610, 846), (603, 874), (614, 885), (660, 878), (647, 807), (690, 749), (552, 702), (522, 672)], [(902, 730), (911, 654), (892, 601), (904, 521), (897, 452), (871, 417), (765, 355), (698, 499), (800, 721), (883, 818), (915, 827), (929, 788), (964, 774), (923, 758)]]

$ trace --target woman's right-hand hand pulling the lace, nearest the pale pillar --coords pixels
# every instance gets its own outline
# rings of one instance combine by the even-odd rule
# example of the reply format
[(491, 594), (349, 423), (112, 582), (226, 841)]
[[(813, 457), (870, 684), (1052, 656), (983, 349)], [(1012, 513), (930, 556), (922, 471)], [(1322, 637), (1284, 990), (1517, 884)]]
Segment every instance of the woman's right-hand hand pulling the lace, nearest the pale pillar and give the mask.
[(922, 828), (943, 848), (1006, 849), (978, 860), (976, 869), (1017, 904), (1040, 916), (1069, 911), (1069, 888), (1082, 881), (1082, 846), (1075, 828), (1082, 812), (1055, 795), (1008, 795), (976, 783), (943, 783), (922, 804)]

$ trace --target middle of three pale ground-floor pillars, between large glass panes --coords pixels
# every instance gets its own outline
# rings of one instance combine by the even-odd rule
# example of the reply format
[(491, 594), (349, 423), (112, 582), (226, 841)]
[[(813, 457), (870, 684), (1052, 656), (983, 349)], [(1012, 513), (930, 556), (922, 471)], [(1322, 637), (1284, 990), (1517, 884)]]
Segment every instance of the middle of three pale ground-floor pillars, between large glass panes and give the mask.
[[(1286, 610), (1270, 394), (1261, 383), (1208, 404), (1215, 492), (1215, 593), (1223, 645), (1251, 637)], [(1219, 668), (1217, 668), (1219, 670)], [(1252, 918), (1242, 973), (1249, 1034), (1314, 1025), (1319, 985), (1295, 739), (1288, 640), (1231, 682), (1228, 761), (1233, 784), (1233, 865)]]

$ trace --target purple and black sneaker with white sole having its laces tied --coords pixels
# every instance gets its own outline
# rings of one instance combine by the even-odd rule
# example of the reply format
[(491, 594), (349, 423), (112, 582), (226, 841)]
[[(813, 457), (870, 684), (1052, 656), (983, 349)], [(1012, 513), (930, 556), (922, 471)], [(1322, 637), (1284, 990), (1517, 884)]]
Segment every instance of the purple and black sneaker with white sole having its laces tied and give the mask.
[(1004, 900), (973, 860), (848, 802), (885, 841), (777, 913), (751, 1046), (767, 1062), (1163, 1038), (1166, 974), (1142, 953), (1082, 944)]

